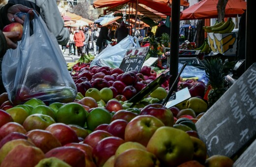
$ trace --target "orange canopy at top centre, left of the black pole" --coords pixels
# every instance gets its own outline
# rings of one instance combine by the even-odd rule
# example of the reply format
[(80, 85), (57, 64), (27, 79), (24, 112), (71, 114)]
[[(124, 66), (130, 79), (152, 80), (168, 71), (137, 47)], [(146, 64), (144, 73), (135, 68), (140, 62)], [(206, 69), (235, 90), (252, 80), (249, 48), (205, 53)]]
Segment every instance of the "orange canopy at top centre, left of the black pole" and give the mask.
[(166, 3), (157, 2), (153, 0), (96, 0), (93, 3), (94, 8), (102, 7), (117, 7), (123, 4), (136, 4), (138, 1), (139, 4), (144, 4), (164, 15), (171, 16), (171, 8), (167, 6)]

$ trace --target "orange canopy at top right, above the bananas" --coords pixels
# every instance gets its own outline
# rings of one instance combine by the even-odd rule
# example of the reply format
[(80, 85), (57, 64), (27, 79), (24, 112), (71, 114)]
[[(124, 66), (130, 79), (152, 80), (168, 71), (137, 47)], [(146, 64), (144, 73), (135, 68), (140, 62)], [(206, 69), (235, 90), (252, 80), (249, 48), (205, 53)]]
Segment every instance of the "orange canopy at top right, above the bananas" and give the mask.
[[(180, 20), (218, 18), (217, 3), (218, 0), (199, 1), (183, 10), (180, 14)], [(225, 17), (236, 17), (243, 14), (245, 9), (246, 1), (228, 0), (225, 7)]]

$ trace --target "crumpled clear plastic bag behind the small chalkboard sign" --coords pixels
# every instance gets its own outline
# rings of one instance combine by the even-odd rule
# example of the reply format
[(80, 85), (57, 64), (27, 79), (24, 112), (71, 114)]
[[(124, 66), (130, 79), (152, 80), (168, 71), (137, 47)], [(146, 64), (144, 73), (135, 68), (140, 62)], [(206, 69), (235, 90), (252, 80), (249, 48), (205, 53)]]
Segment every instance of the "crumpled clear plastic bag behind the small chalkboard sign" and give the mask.
[[(135, 42), (134, 42), (135, 41)], [(119, 67), (128, 49), (140, 48), (138, 38), (128, 35), (118, 44), (110, 44), (91, 61), (90, 65)]]

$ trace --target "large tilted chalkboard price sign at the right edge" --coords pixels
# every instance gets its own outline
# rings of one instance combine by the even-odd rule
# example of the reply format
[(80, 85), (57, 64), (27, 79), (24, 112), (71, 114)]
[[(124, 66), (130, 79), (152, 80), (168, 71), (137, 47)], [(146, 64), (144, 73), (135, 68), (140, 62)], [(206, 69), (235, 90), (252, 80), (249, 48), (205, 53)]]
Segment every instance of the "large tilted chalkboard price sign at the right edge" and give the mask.
[(196, 122), (208, 155), (233, 158), (256, 139), (256, 63)]

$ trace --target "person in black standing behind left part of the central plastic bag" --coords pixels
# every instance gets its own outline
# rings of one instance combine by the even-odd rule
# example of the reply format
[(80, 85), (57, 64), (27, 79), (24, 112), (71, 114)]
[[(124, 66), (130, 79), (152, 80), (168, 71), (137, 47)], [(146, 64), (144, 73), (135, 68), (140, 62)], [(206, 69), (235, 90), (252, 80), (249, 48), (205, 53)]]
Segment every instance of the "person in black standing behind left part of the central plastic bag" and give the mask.
[(108, 37), (108, 30), (111, 28), (111, 25), (102, 26), (99, 31), (99, 35), (96, 41), (96, 45), (98, 46), (98, 53), (101, 52), (102, 46), (106, 45), (106, 40), (111, 41)]

